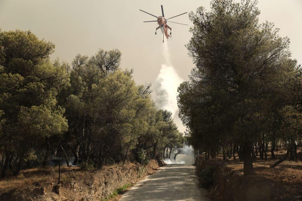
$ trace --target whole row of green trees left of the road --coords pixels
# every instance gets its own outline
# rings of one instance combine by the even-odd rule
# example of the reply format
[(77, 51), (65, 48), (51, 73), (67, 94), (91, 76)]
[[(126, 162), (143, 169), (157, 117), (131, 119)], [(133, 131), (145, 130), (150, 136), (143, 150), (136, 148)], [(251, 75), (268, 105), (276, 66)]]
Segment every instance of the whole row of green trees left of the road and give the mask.
[(119, 50), (76, 55), (70, 65), (50, 61), (54, 47), (30, 31), (0, 30), (1, 178), (59, 154), (67, 165), (102, 168), (181, 146), (172, 113), (119, 68)]

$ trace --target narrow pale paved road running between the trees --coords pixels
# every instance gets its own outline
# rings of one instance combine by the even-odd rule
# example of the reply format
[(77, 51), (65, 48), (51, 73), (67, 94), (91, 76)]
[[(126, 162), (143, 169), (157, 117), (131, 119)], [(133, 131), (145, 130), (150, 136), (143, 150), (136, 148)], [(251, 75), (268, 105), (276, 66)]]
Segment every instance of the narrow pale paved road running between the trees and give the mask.
[(207, 190), (198, 187), (195, 166), (166, 165), (135, 184), (119, 201), (209, 200)]

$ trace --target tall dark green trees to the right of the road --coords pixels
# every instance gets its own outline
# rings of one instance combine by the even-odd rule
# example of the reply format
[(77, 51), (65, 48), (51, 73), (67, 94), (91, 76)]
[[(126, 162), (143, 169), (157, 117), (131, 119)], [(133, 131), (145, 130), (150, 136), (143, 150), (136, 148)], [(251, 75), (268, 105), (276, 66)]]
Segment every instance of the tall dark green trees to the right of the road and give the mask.
[(289, 39), (274, 24), (259, 24), (256, 1), (213, 0), (189, 14), (194, 26), (187, 49), (196, 65), (178, 87), (179, 115), (189, 141), (205, 157), (223, 153), (244, 161), (253, 174), (256, 156), (267, 160), (281, 143), (297, 160), (301, 144), (302, 71)]

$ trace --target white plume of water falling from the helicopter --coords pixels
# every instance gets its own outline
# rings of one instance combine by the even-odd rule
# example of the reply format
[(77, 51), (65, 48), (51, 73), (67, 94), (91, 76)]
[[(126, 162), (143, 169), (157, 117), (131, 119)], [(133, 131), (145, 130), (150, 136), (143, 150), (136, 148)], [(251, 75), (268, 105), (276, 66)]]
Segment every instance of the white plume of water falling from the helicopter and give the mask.
[(162, 64), (162, 68), (160, 69), (159, 74), (153, 83), (153, 96), (156, 101), (156, 105), (160, 109), (171, 111), (172, 118), (175, 118), (175, 115), (178, 114), (176, 99), (177, 87), (184, 80), (179, 77), (174, 67), (172, 66), (170, 53), (166, 42), (163, 44), (162, 48), (165, 64)]

